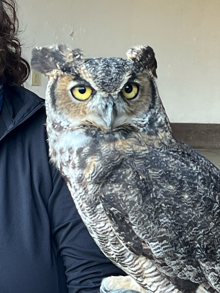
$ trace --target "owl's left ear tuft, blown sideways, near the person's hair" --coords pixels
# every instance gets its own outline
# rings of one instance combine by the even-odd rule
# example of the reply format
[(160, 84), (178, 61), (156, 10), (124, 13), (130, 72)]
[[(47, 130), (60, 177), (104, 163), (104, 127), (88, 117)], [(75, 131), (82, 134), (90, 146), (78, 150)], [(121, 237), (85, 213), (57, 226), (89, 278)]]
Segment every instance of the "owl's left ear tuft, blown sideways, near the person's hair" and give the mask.
[(79, 49), (71, 50), (67, 45), (36, 47), (32, 50), (31, 68), (45, 75), (54, 69), (73, 71), (75, 65), (84, 63)]

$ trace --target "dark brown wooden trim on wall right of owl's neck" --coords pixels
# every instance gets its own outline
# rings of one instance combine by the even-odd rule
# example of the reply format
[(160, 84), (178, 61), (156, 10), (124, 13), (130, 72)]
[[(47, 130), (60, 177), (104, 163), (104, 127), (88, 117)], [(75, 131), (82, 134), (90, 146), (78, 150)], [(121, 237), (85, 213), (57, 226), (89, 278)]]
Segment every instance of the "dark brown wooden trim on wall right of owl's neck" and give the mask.
[(173, 135), (193, 148), (220, 148), (220, 124), (171, 123)]

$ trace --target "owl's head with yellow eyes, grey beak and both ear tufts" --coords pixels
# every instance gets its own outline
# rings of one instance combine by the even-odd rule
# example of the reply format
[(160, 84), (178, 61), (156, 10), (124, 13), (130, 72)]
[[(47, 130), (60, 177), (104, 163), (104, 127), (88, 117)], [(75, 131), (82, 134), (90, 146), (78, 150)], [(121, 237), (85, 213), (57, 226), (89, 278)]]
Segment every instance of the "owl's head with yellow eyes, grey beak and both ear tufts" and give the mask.
[(127, 59), (86, 59), (65, 45), (35, 48), (31, 66), (49, 77), (47, 112), (66, 127), (134, 129), (162, 111), (154, 82), (157, 61), (149, 46), (128, 50)]

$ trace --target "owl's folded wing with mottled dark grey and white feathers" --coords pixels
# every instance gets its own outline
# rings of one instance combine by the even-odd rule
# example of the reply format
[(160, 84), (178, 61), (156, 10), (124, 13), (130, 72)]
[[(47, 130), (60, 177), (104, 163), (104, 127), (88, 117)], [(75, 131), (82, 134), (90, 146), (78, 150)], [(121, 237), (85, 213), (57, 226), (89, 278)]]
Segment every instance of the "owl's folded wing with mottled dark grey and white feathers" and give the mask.
[(103, 185), (102, 202), (130, 250), (170, 277), (201, 283), (220, 257), (219, 178), (183, 144), (124, 160)]

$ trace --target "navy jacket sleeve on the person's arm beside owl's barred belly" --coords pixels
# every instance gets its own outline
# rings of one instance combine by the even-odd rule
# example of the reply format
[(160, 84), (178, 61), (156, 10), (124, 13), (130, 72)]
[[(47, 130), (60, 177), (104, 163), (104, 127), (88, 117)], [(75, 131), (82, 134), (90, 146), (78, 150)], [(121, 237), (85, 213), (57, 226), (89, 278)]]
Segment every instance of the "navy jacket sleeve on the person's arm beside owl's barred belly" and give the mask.
[(48, 209), (52, 235), (65, 266), (69, 293), (99, 292), (104, 277), (125, 274), (95, 244), (57, 170), (54, 170)]

